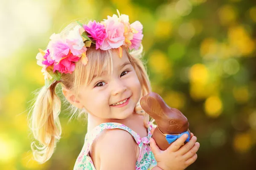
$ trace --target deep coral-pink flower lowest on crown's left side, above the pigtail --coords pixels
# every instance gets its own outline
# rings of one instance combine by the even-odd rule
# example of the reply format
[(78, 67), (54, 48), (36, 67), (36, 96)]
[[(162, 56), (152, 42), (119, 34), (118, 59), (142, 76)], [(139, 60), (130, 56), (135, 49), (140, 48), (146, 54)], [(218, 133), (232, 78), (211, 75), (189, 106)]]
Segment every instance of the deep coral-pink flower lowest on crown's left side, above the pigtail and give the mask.
[(55, 70), (58, 70), (61, 73), (72, 73), (75, 70), (75, 62), (79, 61), (79, 57), (76, 55), (73, 55), (71, 51), (69, 52), (69, 55), (62, 58), (59, 63), (55, 62), (53, 65), (53, 72)]

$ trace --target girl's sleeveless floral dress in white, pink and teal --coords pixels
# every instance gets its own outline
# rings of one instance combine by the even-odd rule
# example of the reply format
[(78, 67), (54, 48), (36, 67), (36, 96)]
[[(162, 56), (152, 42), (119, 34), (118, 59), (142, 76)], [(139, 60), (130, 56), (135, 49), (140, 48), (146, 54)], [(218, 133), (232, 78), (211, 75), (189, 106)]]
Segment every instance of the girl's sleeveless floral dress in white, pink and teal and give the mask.
[(93, 143), (93, 140), (96, 138), (102, 130), (105, 129), (122, 129), (130, 133), (135, 141), (137, 142), (140, 148), (140, 156), (136, 162), (136, 170), (151, 170), (154, 166), (157, 165), (157, 162), (154, 158), (154, 155), (149, 147), (149, 138), (151, 138), (152, 134), (150, 130), (154, 124), (150, 124), (148, 122), (148, 136), (140, 138), (140, 135), (124, 124), (119, 123), (103, 123), (99, 126), (96, 126), (90, 133), (85, 135), (84, 146), (76, 159), (76, 163), (73, 170), (96, 170), (94, 167), (93, 161), (89, 156), (90, 146)]

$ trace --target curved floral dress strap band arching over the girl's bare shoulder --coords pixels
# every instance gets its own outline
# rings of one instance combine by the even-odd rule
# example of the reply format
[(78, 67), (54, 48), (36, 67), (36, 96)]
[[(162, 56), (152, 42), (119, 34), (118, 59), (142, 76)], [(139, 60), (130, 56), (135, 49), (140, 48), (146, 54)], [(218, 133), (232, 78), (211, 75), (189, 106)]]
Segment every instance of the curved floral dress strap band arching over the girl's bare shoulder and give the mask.
[(102, 123), (102, 124), (96, 126), (90, 133), (87, 133), (87, 135), (85, 136), (85, 146), (86, 146), (85, 154), (86, 155), (89, 153), (90, 147), (91, 147), (94, 139), (99, 135), (99, 133), (101, 133), (105, 129), (125, 130), (134, 137), (137, 144), (141, 143), (140, 135), (138, 133), (134, 132), (133, 130), (131, 130), (129, 127), (125, 126), (124, 124), (115, 123), (115, 122)]

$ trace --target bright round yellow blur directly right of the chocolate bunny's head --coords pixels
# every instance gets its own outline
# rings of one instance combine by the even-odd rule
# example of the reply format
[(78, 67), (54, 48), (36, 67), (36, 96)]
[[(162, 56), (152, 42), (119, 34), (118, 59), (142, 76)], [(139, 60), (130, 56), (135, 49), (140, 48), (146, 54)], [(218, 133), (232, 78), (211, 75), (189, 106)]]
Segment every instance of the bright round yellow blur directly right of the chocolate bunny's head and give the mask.
[(222, 102), (218, 96), (210, 96), (206, 99), (204, 109), (209, 117), (216, 118), (222, 112)]

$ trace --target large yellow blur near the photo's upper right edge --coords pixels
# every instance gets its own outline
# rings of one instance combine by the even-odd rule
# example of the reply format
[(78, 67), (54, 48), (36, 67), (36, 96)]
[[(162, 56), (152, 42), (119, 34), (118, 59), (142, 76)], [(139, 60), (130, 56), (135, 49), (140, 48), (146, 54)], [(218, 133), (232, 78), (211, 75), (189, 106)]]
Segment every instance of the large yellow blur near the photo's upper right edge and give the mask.
[(242, 26), (231, 27), (228, 38), (230, 45), (237, 48), (241, 55), (250, 55), (255, 50), (255, 42)]

